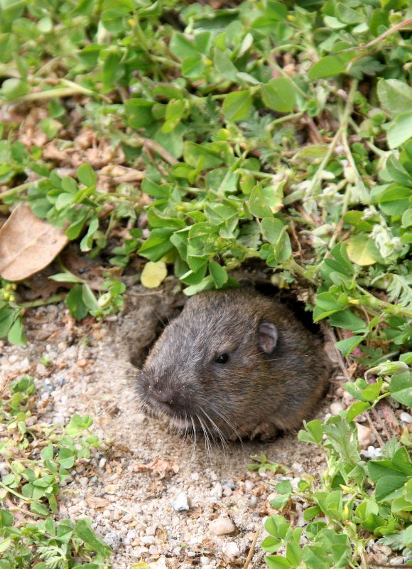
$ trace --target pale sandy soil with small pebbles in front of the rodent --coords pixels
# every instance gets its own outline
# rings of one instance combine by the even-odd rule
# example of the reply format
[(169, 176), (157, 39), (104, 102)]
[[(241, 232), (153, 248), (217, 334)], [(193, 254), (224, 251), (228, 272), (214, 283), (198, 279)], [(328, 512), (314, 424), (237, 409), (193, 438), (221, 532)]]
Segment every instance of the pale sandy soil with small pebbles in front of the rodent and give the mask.
[[(77, 324), (64, 304), (31, 309), (28, 345), (1, 344), (1, 375), (31, 373), (42, 421), (67, 424), (75, 413), (92, 416), (92, 430), (106, 445), (73, 469), (60, 492), (60, 515), (90, 517), (112, 546), (115, 569), (140, 560), (159, 569), (243, 567), (256, 532), (250, 567), (263, 568), (259, 544), (264, 517), (274, 512), (271, 482), (294, 484), (303, 472), (316, 475), (323, 458), (313, 445), (298, 442), (296, 432), (269, 443), (208, 449), (202, 438), (194, 445), (139, 413), (129, 361), (141, 364), (163, 323), (183, 306), (174, 285), (170, 280), (156, 292), (132, 287), (124, 312), (102, 323)], [(40, 363), (42, 356), (50, 366)], [(337, 376), (331, 385), (340, 381)], [(319, 418), (330, 403), (328, 395)], [(262, 453), (286, 470), (249, 472), (251, 457)]]

